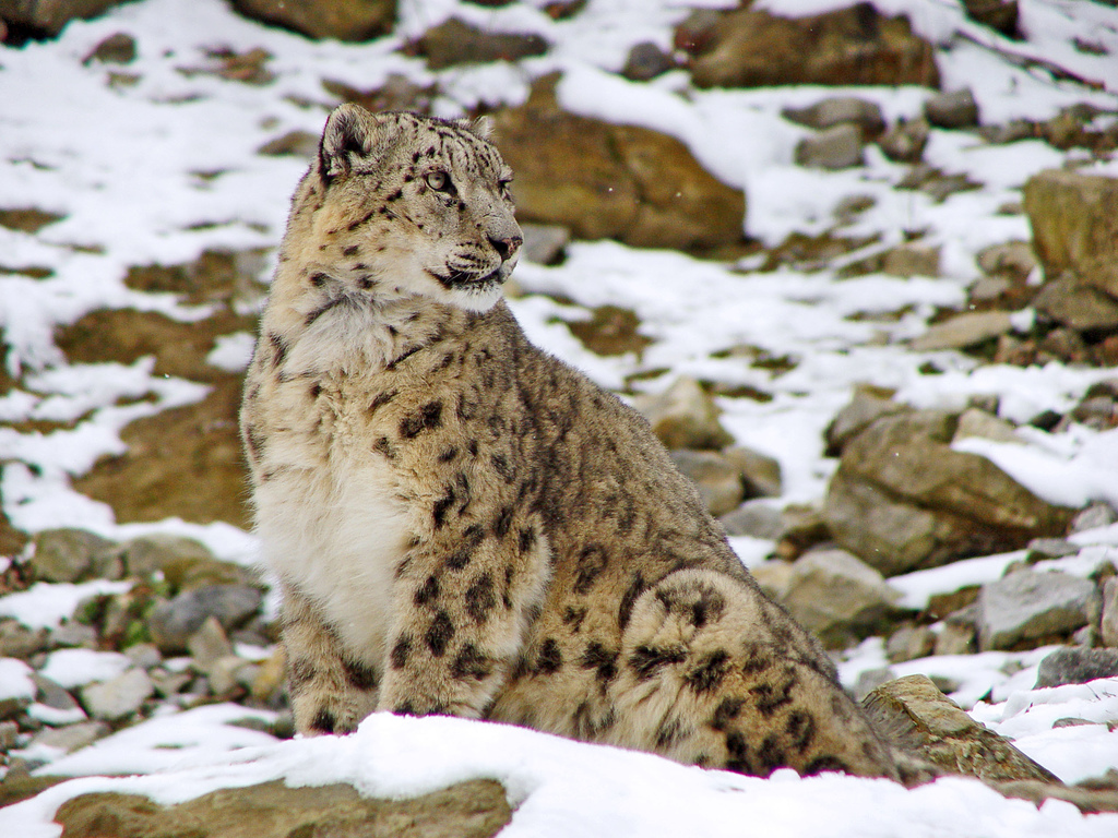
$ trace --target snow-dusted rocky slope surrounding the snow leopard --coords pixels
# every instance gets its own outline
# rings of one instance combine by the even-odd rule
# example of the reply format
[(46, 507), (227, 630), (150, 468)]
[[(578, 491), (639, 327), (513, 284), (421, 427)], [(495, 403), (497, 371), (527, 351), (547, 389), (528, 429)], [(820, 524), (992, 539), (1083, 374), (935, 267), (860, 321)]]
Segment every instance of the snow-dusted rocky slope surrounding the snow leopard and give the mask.
[[(104, 4), (0, 1), (0, 835), (1118, 835), (1112, 3)], [(292, 740), (236, 408), (347, 99), (493, 115), (529, 336), (960, 775)]]

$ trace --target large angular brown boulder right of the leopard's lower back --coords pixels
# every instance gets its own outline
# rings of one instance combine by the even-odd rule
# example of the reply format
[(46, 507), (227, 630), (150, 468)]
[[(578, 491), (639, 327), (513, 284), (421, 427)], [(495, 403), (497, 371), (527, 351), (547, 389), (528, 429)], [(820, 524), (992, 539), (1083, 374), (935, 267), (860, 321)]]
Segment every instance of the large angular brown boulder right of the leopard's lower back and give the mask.
[(849, 439), (823, 510), (841, 546), (889, 577), (1063, 535), (1072, 511), (954, 450), (956, 425), (945, 411), (902, 409)]

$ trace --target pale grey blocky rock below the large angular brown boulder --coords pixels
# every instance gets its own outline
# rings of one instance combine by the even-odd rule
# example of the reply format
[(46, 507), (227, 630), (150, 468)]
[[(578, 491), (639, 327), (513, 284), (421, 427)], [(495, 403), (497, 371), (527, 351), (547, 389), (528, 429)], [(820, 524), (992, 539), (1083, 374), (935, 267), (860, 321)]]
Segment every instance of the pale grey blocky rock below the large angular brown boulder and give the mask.
[(978, 646), (1013, 649), (1041, 645), (1088, 622), (1095, 585), (1068, 573), (1020, 570), (978, 593)]

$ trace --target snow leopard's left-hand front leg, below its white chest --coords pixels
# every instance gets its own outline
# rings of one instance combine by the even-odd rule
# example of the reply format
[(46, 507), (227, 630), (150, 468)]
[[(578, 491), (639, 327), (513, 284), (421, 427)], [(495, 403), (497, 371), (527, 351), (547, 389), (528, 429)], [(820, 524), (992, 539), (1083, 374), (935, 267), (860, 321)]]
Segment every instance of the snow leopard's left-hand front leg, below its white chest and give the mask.
[(283, 585), (283, 646), (295, 730), (304, 735), (351, 733), (377, 706), (378, 667), (349, 654), (311, 600)]

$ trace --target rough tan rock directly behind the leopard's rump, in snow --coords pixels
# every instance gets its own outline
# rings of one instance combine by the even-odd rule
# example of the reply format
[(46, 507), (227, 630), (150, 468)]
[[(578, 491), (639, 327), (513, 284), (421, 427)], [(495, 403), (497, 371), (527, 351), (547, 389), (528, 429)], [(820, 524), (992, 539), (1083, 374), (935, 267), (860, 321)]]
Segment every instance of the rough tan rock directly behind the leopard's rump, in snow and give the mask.
[(1010, 740), (970, 718), (927, 676), (909, 675), (882, 684), (862, 706), (890, 741), (944, 771), (985, 782), (1059, 783)]

